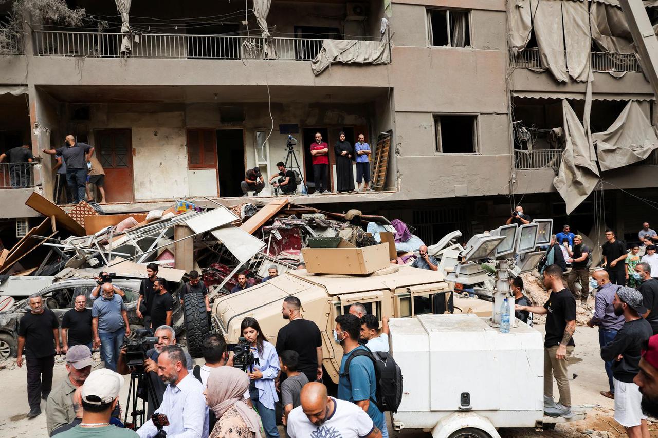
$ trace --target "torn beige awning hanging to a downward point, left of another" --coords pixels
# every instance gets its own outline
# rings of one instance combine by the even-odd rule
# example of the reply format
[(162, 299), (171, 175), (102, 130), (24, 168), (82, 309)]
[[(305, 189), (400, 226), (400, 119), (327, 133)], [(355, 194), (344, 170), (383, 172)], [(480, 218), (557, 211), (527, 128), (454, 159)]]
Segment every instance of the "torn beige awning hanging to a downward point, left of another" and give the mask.
[(566, 145), (553, 185), (570, 214), (592, 193), (599, 181), (599, 171), (591, 160), (590, 142), (578, 116), (567, 101), (562, 101), (562, 110)]

